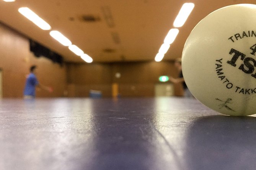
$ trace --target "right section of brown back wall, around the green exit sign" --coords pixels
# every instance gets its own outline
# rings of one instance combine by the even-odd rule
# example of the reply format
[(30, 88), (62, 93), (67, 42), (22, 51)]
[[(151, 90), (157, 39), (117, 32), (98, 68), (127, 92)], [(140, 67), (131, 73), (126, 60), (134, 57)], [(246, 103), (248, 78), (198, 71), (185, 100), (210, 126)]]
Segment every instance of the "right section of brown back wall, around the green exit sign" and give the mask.
[[(120, 78), (115, 77), (117, 72), (121, 74)], [(161, 75), (178, 77), (172, 61), (113, 64), (113, 82), (119, 84), (122, 96), (155, 96), (155, 85)], [(176, 96), (183, 95), (182, 90), (181, 85), (174, 85)]]

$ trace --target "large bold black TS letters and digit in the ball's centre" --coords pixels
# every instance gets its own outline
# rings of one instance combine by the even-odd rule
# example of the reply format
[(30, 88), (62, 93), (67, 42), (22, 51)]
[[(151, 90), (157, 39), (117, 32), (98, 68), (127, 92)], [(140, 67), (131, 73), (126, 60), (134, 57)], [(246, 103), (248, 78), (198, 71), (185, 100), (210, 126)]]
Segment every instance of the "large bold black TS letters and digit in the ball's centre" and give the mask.
[[(256, 44), (250, 47), (252, 50), (251, 54), (255, 56), (256, 53)], [(230, 64), (233, 67), (236, 67), (236, 61), (238, 58), (240, 58), (243, 61), (243, 64), (241, 64), (238, 69), (243, 71), (246, 74), (251, 74), (252, 77), (256, 79), (256, 73), (252, 74), (254, 72), (254, 67), (256, 67), (256, 60), (251, 57), (246, 57), (245, 54), (241, 53), (240, 51), (237, 51), (235, 49), (231, 49), (229, 52), (230, 55), (234, 54), (232, 59), (230, 61), (227, 61), (228, 64)], [(252, 62), (252, 63), (250, 63)]]

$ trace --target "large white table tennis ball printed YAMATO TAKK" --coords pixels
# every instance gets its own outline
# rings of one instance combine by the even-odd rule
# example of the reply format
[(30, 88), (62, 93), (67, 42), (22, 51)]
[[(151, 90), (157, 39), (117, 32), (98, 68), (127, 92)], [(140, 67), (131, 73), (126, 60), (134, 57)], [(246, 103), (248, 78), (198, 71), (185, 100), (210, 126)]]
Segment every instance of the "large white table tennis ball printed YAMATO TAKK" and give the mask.
[(226, 6), (202, 19), (184, 45), (182, 70), (205, 106), (256, 114), (256, 5)]

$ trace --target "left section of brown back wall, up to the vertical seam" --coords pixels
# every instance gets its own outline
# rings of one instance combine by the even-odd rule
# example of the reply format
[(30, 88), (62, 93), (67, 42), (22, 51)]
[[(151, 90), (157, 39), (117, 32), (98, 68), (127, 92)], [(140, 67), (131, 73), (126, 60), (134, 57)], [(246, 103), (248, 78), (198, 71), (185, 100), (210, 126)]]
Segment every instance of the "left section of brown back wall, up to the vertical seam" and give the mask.
[(90, 90), (98, 90), (103, 96), (111, 96), (111, 66), (109, 64), (67, 65), (69, 97), (88, 97)]

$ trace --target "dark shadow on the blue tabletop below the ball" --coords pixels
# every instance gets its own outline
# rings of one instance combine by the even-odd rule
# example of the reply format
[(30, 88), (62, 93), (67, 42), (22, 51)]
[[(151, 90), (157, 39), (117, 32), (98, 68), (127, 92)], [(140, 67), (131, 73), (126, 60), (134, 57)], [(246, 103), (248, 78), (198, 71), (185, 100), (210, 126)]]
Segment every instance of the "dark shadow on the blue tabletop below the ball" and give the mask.
[(189, 170), (256, 168), (256, 117), (207, 116), (189, 127)]

